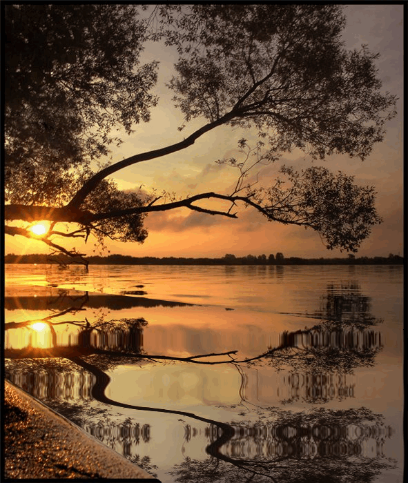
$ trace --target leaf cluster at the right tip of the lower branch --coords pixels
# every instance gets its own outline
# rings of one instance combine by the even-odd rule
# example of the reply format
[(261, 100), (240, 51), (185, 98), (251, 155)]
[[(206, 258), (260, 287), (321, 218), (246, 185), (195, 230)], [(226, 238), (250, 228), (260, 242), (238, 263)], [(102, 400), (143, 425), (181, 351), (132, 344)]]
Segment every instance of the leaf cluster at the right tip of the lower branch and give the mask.
[[(300, 173), (283, 166), (280, 172), (287, 181), (278, 178), (269, 188), (252, 189), (252, 201), (262, 207), (269, 221), (313, 228), (329, 250), (356, 252), (371, 226), (382, 221), (374, 206), (374, 188), (353, 184), (352, 176), (342, 172), (333, 175), (322, 166)], [(276, 254), (277, 260), (278, 255), (282, 254)]]

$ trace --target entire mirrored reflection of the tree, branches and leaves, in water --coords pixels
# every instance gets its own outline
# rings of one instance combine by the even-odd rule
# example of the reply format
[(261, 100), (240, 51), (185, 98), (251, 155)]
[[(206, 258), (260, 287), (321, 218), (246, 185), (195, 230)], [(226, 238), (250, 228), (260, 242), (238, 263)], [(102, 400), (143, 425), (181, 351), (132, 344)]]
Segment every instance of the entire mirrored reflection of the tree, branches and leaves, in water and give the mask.
[[(209, 356), (215, 354), (207, 354), (205, 359), (204, 355), (146, 354), (143, 332), (148, 324), (142, 317), (111, 320), (98, 317), (92, 324), (88, 319), (57, 322), (60, 315), (81, 311), (81, 300), (77, 299), (72, 308), (53, 311), (42, 319), (52, 333), (51, 348), (6, 348), (6, 357), (14, 359), (6, 362), (6, 377), (150, 473), (155, 469), (150, 458), (136, 454), (137, 446), (150, 440), (150, 425), (140, 426), (129, 418), (114, 422), (113, 407), (171, 413), (206, 423), (209, 457), (206, 460), (186, 457), (171, 471), (175, 483), (370, 483), (394, 462), (382, 452), (391, 428), (385, 426), (381, 415), (367, 408), (314, 408), (293, 413), (282, 408), (257, 407), (258, 420), (226, 423), (186, 411), (122, 404), (104, 393), (110, 380), (105, 371), (153, 359), (233, 364), (242, 380), (242, 405), (251, 404), (244, 395), (244, 369), (252, 366), (271, 366), (284, 372), (290, 394), (282, 401), (284, 404), (296, 401), (322, 404), (353, 397), (353, 385), (347, 382), (347, 377), (355, 368), (373, 366), (382, 342), (380, 332), (372, 328), (378, 320), (370, 314), (369, 298), (358, 293), (356, 284), (339, 287), (328, 286), (320, 311), (313, 315), (321, 318), (318, 324), (282, 333), (278, 346), (269, 347), (256, 357), (240, 359), (237, 351), (229, 351), (224, 353), (228, 358), (222, 361), (211, 360)], [(66, 304), (64, 297), (61, 300)], [(31, 323), (31, 320), (9, 323), (6, 331), (23, 330)], [(75, 340), (59, 345), (55, 333), (58, 324), (75, 326)], [(93, 400), (101, 404), (92, 406)], [(185, 420), (184, 426), (185, 443), (199, 435), (200, 431)]]

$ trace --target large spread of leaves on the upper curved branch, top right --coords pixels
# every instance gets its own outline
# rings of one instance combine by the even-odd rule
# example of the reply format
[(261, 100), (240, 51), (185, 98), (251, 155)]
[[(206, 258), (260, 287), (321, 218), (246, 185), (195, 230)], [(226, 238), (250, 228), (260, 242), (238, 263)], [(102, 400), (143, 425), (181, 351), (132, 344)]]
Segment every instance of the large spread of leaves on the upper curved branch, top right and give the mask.
[[(193, 5), (162, 8), (177, 46), (170, 86), (186, 121), (255, 126), (271, 152), (301, 148), (367, 157), (382, 140), (395, 98), (380, 94), (367, 48), (347, 51), (337, 5)], [(170, 26), (170, 27), (168, 27)]]

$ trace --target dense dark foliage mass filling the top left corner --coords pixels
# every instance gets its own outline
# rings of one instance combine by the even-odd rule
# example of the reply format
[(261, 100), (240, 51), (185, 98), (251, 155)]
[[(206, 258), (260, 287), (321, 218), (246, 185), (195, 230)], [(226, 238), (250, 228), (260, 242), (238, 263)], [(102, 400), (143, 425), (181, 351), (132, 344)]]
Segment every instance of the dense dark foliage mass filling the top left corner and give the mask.
[(70, 168), (119, 141), (112, 128), (148, 121), (156, 64), (139, 66), (136, 17), (130, 5), (6, 6), (6, 199), (55, 201)]

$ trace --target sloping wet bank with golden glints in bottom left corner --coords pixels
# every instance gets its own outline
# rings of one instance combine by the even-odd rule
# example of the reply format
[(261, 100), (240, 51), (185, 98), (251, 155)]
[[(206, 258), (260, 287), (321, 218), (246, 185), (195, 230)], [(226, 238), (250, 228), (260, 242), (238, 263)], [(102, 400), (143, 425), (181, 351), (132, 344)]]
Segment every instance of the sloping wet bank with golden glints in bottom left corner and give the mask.
[(2, 419), (2, 481), (79, 478), (160, 483), (8, 380)]

